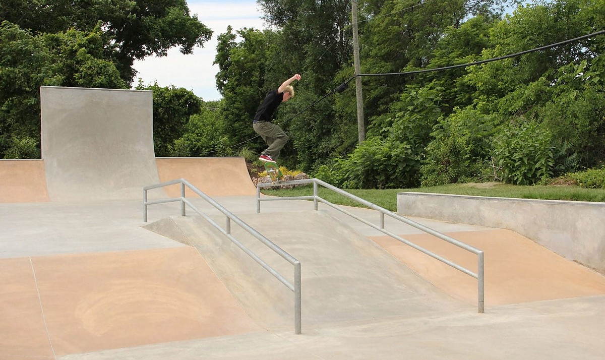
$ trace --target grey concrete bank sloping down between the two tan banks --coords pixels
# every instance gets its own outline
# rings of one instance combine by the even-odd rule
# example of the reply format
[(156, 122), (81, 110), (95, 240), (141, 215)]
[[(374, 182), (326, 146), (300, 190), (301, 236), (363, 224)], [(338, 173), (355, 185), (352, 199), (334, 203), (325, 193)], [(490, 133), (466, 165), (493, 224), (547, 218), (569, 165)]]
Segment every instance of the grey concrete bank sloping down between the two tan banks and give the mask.
[[(301, 261), (302, 332), (306, 326), (391, 316), (468, 311), (323, 211), (238, 215)], [(221, 226), (225, 217), (212, 217)], [(293, 293), (201, 217), (169, 217), (146, 226), (195, 246), (252, 319), (270, 330), (293, 329)], [(293, 283), (293, 266), (237, 224), (232, 234)]]

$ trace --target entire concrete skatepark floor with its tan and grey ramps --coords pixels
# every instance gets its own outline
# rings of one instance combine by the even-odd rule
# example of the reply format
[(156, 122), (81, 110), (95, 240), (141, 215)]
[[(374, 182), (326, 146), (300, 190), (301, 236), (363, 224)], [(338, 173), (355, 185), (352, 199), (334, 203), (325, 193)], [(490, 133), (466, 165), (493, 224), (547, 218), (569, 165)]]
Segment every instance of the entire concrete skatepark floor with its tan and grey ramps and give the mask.
[[(605, 277), (530, 238), (413, 218), (485, 252), (477, 313), (475, 279), (328, 206), (267, 201), (257, 213), (241, 158), (156, 159), (150, 92), (41, 92), (43, 159), (0, 160), (0, 359), (603, 358)], [(152, 205), (143, 222), (143, 186), (175, 178), (301, 261), (301, 335), (292, 293), (195, 212)], [(476, 267), (413, 227), (385, 228)], [(291, 274), (240, 227), (232, 234)]]

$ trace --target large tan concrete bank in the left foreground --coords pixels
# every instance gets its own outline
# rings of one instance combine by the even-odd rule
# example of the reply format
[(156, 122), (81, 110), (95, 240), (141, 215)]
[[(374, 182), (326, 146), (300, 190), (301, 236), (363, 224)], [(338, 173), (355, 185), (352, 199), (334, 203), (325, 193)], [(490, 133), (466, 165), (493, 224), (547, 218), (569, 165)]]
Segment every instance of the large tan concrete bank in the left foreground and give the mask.
[(189, 246), (0, 259), (0, 289), (2, 359), (263, 331)]

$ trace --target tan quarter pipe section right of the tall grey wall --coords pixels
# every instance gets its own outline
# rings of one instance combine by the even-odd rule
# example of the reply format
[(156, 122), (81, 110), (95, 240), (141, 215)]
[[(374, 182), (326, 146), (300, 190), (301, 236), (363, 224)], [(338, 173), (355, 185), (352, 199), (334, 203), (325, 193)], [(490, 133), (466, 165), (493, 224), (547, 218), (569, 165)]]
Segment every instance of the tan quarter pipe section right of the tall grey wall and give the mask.
[[(209, 196), (255, 195), (243, 157), (159, 157), (157, 172), (161, 182), (184, 178)], [(180, 197), (180, 185), (165, 188), (170, 197)], [(185, 188), (187, 197), (197, 197)]]

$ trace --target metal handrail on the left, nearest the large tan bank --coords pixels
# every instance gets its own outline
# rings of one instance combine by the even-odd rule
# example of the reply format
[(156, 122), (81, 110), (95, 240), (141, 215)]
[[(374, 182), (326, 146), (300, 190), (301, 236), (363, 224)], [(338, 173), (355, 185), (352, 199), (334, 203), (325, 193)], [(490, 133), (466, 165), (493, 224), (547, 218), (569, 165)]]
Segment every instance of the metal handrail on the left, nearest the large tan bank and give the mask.
[[(169, 185), (181, 185), (181, 197), (177, 198), (168, 198), (163, 200), (155, 200), (155, 201), (147, 201), (147, 191), (151, 189), (163, 188), (164, 186)], [(214, 206), (218, 211), (222, 212), (226, 216), (226, 227), (223, 229), (219, 224), (215, 223), (208, 215), (204, 214), (200, 209), (198, 209), (195, 205), (191, 203), (185, 197), (185, 186), (191, 189), (195, 194), (200, 195), (201, 198), (208, 201), (212, 206)], [(212, 226), (216, 227), (218, 231), (220, 231), (223, 235), (226, 235), (229, 240), (232, 241), (235, 245), (237, 245), (240, 249), (242, 249), (247, 255), (249, 255), (253, 260), (255, 260), (260, 266), (264, 267), (271, 275), (273, 275), (277, 280), (279, 280), (282, 284), (284, 284), (290, 291), (294, 293), (294, 331), (296, 334), (300, 334), (302, 331), (301, 325), (301, 263), (296, 260), (296, 258), (292, 257), (292, 255), (288, 254), (286, 251), (281, 249), (281, 247), (277, 246), (273, 241), (266, 238), (263, 234), (253, 229), (250, 225), (245, 223), (243, 220), (238, 218), (231, 211), (224, 208), (224, 206), (220, 205), (213, 198), (201, 192), (194, 185), (189, 183), (184, 178), (179, 178), (177, 180), (172, 180), (169, 182), (163, 182), (157, 185), (145, 186), (143, 188), (143, 221), (147, 222), (147, 206), (154, 204), (162, 204), (162, 203), (171, 203), (175, 201), (181, 202), (181, 216), (185, 216), (185, 205), (189, 205), (191, 209), (201, 215), (206, 221), (212, 224)], [(280, 255), (284, 260), (288, 261), (290, 264), (294, 266), (294, 284), (290, 283), (286, 278), (284, 278), (280, 273), (278, 273), (275, 269), (273, 269), (269, 264), (265, 263), (260, 257), (252, 252), (252, 250), (248, 249), (244, 244), (238, 241), (233, 235), (231, 235), (231, 221), (240, 225), (244, 230), (250, 233), (253, 237), (257, 238), (261, 241), (261, 243), (265, 244), (269, 249), (273, 250), (276, 254)]]

